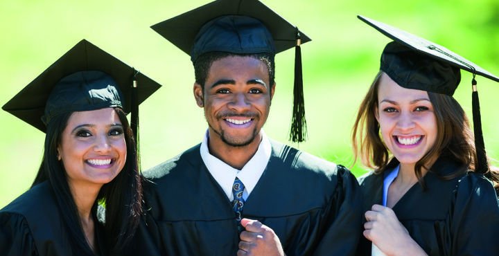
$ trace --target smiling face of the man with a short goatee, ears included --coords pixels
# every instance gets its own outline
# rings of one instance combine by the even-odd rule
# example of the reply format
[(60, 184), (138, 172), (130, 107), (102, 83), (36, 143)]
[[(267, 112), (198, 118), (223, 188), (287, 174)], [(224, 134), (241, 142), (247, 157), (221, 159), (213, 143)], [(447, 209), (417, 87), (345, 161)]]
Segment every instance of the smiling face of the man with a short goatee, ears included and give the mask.
[(229, 56), (211, 64), (204, 90), (194, 95), (209, 125), (210, 145), (243, 147), (255, 138), (270, 110), (274, 88), (267, 66), (254, 57)]

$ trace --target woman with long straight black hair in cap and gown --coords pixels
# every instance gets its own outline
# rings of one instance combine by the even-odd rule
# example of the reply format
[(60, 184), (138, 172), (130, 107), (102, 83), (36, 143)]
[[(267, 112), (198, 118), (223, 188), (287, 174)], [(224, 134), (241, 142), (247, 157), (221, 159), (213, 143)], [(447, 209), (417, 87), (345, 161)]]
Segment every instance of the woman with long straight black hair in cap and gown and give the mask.
[(132, 111), (159, 84), (86, 40), (3, 109), (46, 134), (30, 190), (0, 210), (1, 255), (121, 255), (142, 212)]

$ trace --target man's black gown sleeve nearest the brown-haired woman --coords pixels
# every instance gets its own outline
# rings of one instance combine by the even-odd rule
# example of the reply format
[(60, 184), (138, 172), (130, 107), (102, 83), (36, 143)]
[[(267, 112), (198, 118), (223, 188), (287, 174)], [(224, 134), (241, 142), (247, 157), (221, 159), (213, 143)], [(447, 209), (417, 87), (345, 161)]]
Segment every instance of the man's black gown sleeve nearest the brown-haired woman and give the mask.
[(331, 223), (313, 255), (354, 255), (362, 235), (362, 195), (355, 176), (341, 165), (331, 203)]

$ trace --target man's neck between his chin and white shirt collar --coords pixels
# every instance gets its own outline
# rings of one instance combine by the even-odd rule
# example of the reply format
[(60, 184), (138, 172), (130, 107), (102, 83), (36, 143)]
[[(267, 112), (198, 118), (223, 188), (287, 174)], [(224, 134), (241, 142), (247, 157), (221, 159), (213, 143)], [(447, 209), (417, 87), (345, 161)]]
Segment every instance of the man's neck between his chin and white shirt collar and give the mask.
[[(211, 137), (210, 131), (210, 138)], [(227, 165), (241, 170), (246, 165), (246, 163), (251, 159), (259, 148), (260, 142), (262, 140), (261, 131), (255, 137), (255, 139), (248, 145), (242, 147), (234, 147), (227, 145), (227, 143), (222, 142), (222, 140), (208, 140), (208, 149), (211, 155), (216, 156)]]

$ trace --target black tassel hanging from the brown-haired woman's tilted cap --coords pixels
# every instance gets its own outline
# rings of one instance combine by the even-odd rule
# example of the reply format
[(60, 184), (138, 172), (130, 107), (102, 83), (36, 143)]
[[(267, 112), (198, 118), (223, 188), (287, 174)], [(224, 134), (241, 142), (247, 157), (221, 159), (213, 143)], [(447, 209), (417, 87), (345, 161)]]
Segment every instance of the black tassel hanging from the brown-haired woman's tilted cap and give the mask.
[(487, 154), (485, 153), (485, 143), (482, 134), (482, 118), (480, 116), (480, 100), (478, 100), (478, 91), (476, 89), (476, 80), (473, 77), (472, 106), (473, 106), (473, 131), (475, 133), (475, 147), (477, 154), (477, 163), (475, 163), (475, 172), (487, 174), (489, 164), (487, 163)]

